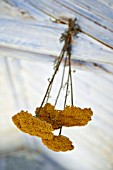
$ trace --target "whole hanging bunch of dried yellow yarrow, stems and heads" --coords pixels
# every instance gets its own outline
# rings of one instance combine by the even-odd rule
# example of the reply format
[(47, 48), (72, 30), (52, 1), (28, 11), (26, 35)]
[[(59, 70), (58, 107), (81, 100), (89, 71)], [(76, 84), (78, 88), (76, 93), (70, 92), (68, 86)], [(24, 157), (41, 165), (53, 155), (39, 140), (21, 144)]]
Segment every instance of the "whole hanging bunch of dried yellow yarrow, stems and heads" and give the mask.
[[(25, 133), (32, 136), (42, 138), (42, 142), (49, 149), (59, 152), (65, 152), (74, 149), (72, 142), (66, 136), (61, 135), (62, 127), (71, 126), (84, 126), (90, 120), (93, 115), (92, 110), (89, 108), (81, 109), (73, 104), (73, 85), (72, 85), (72, 70), (71, 70), (71, 52), (72, 52), (72, 39), (80, 32), (80, 27), (76, 24), (76, 19), (69, 19), (68, 30), (61, 35), (60, 42), (64, 41), (64, 46), (59, 57), (55, 63), (55, 70), (52, 78), (49, 81), (46, 93), (42, 100), (40, 107), (36, 108), (35, 116), (32, 116), (28, 112), (21, 111), (14, 115), (12, 120), (14, 124)], [(50, 97), (54, 78), (58, 72), (60, 64), (65, 57), (64, 68), (62, 73), (61, 85), (58, 91), (58, 95), (55, 100), (54, 106), (51, 105), (48, 100)], [(67, 64), (68, 63), (68, 64)], [(67, 75), (67, 82), (65, 87), (65, 98), (63, 110), (56, 110), (56, 104), (59, 99), (61, 90), (63, 88), (65, 67), (68, 65), (69, 71)], [(71, 106), (67, 106), (68, 91), (71, 91)], [(59, 135), (55, 136), (53, 131), (60, 129)]]

